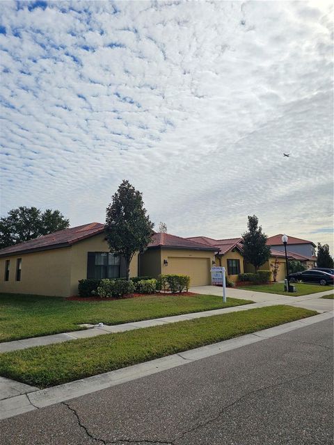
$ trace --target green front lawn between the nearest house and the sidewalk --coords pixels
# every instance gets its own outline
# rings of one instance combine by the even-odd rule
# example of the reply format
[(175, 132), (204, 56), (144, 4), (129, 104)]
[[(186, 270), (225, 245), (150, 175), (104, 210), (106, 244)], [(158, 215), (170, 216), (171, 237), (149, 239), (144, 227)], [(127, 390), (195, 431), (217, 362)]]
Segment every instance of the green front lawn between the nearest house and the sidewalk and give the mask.
[(69, 301), (59, 297), (0, 294), (0, 342), (80, 330), (81, 323), (116, 325), (252, 303), (196, 296), (147, 296), (110, 301)]

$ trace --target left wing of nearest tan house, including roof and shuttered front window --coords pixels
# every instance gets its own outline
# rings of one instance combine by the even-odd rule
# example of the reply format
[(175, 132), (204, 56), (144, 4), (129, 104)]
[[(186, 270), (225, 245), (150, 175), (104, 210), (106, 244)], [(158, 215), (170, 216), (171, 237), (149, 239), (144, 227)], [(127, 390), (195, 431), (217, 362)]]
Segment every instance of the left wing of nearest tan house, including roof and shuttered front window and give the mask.
[[(0, 250), (0, 292), (68, 297), (83, 278), (124, 277), (125, 262), (111, 254), (104, 225), (91, 223)], [(138, 254), (130, 276), (138, 275)]]

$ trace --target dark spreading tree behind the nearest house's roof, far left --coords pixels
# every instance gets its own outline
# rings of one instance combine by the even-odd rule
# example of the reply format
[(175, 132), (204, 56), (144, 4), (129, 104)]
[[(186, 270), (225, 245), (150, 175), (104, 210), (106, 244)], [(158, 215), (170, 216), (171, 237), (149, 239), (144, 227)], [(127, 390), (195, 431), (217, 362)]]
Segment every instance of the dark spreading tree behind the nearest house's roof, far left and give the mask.
[(6, 218), (0, 219), (0, 248), (67, 229), (69, 226), (69, 220), (58, 210), (47, 209), (41, 212), (37, 207), (12, 209), (8, 211)]

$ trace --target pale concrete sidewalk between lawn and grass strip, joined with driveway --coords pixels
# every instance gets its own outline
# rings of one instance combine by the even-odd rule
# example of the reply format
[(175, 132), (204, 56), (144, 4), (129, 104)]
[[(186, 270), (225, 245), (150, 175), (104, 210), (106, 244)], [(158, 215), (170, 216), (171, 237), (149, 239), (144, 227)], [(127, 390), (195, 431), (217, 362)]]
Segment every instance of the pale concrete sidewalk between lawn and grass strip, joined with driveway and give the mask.
[[(207, 295), (221, 296), (222, 289), (217, 286), (198, 286), (189, 289), (191, 292), (205, 293)], [(169, 317), (153, 318), (151, 320), (134, 321), (131, 323), (123, 323), (121, 325), (81, 325), (88, 327), (87, 330), (74, 332), (63, 332), (61, 334), (45, 335), (43, 337), (33, 337), (31, 339), (22, 339), (15, 341), (6, 341), (0, 343), (0, 353), (6, 353), (13, 350), (32, 348), (33, 346), (44, 346), (53, 343), (63, 343), (64, 341), (86, 339), (88, 337), (97, 337), (97, 335), (111, 334), (117, 332), (125, 332), (141, 327), (150, 327), (164, 325), (166, 323), (177, 323), (177, 321), (193, 320), (195, 318), (208, 317), (213, 315), (228, 314), (229, 312), (246, 311), (255, 309), (256, 307), (273, 306), (273, 305), (289, 305), (304, 307), (305, 309), (317, 310), (317, 312), (330, 312), (334, 309), (333, 300), (324, 300), (320, 297), (328, 291), (314, 293), (308, 296), (287, 297), (273, 293), (261, 293), (253, 291), (244, 291), (240, 289), (227, 289), (230, 298), (245, 298), (255, 301), (249, 305), (236, 307), (226, 307), (225, 309), (214, 309), (212, 311), (193, 312), (184, 315), (175, 315)], [(320, 298), (320, 299), (319, 299)]]

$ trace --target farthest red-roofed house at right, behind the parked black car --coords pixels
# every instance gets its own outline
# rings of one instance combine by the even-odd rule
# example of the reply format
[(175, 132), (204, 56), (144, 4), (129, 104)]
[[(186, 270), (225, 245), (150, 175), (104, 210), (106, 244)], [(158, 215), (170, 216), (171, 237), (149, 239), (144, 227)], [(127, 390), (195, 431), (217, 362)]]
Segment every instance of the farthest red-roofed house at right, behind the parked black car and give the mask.
[[(282, 243), (283, 234), (269, 236), (267, 239), (267, 245), (270, 245), (271, 249), (284, 252), (284, 245)], [(317, 266), (317, 257), (315, 256), (316, 245), (312, 241), (307, 241), (301, 238), (295, 238), (288, 235), (287, 252), (294, 256), (294, 259), (301, 261), (305, 266), (310, 269)]]

